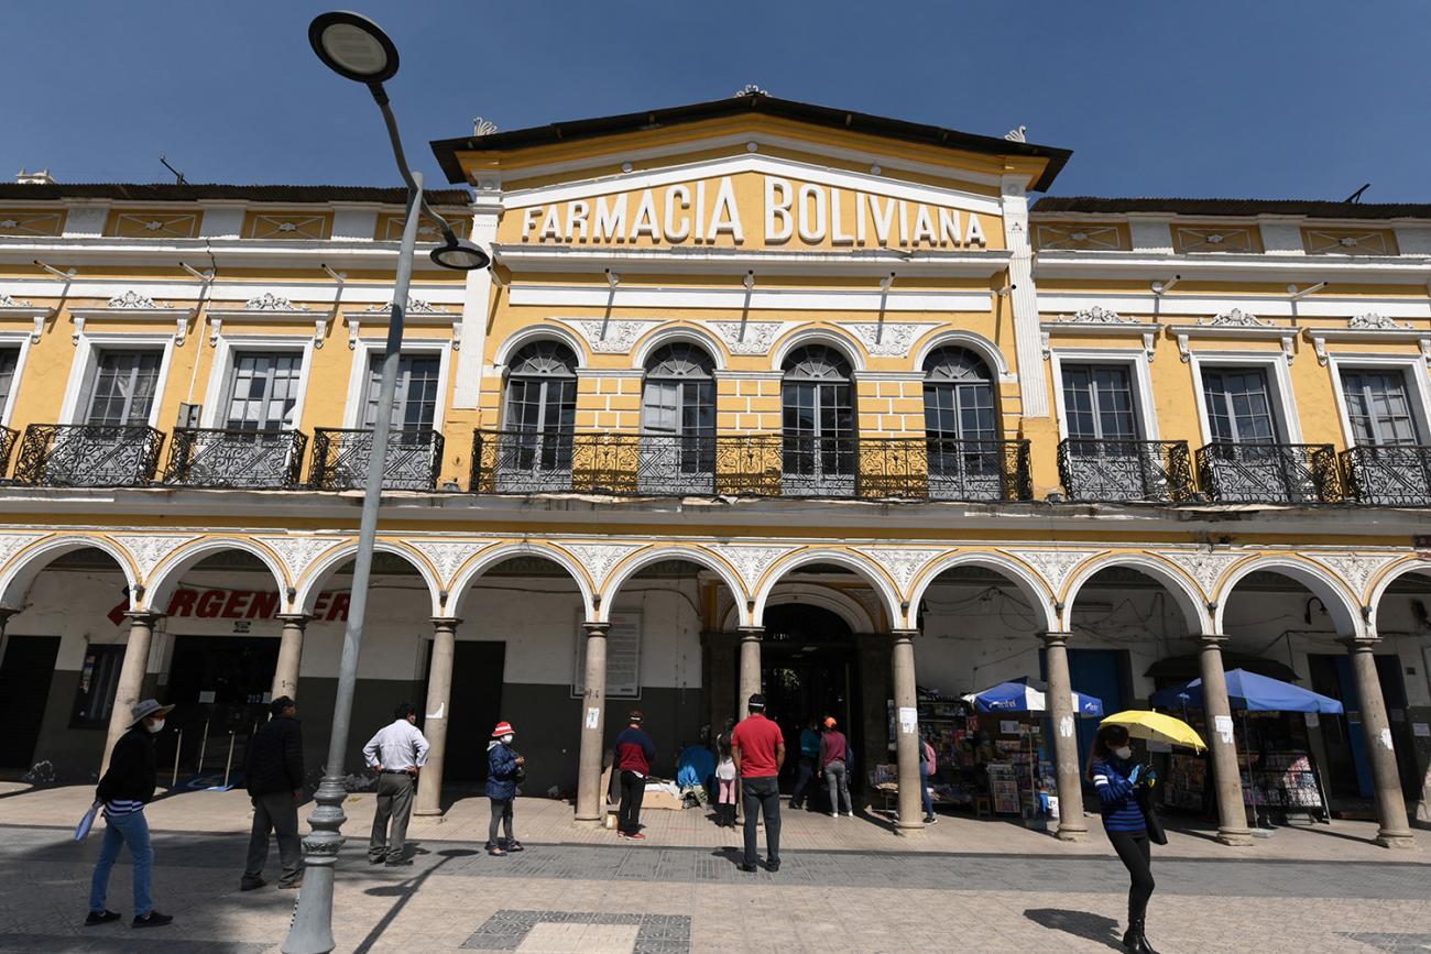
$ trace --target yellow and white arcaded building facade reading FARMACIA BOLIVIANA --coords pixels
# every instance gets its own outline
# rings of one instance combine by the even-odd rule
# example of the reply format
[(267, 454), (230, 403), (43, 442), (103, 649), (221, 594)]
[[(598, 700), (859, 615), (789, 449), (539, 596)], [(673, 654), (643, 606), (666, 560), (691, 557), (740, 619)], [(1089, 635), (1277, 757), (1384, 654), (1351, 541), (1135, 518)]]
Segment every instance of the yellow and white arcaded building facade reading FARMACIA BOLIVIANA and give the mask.
[[(353, 731), (421, 701), (419, 810), (508, 719), (595, 817), (622, 707), (673, 759), (763, 688), (917, 828), (920, 692), (1033, 677), (1078, 838), (1070, 688), (1275, 664), (1347, 705), (1332, 807), (1410, 844), (1431, 206), (1035, 202), (1070, 153), (758, 92), (434, 150), (494, 266), (418, 256)], [(321, 762), (402, 203), (0, 186), (6, 771), (93, 777), (146, 695), (176, 774), (276, 694)]]

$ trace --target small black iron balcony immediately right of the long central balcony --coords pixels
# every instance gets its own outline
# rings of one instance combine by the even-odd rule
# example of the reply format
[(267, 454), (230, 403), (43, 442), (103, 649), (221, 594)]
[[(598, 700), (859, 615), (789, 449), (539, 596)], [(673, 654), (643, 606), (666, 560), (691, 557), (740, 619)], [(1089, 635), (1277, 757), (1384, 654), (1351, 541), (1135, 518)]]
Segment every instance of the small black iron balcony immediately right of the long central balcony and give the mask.
[(1059, 479), (1072, 501), (1178, 503), (1193, 493), (1186, 441), (1059, 443)]

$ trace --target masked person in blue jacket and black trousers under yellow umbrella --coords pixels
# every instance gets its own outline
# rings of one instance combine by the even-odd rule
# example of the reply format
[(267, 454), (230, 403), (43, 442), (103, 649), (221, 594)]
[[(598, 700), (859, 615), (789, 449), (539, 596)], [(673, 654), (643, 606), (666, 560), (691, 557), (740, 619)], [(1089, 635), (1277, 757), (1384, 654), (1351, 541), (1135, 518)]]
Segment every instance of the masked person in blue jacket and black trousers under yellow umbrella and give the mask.
[(1105, 725), (1093, 738), (1089, 752), (1088, 778), (1098, 792), (1103, 812), (1103, 831), (1113, 842), (1123, 867), (1132, 878), (1128, 890), (1128, 931), (1123, 947), (1130, 954), (1158, 954), (1143, 935), (1148, 898), (1153, 892), (1152, 851), (1148, 841), (1148, 820), (1138, 801), (1138, 790), (1148, 784), (1142, 765), (1133, 762), (1128, 729)]

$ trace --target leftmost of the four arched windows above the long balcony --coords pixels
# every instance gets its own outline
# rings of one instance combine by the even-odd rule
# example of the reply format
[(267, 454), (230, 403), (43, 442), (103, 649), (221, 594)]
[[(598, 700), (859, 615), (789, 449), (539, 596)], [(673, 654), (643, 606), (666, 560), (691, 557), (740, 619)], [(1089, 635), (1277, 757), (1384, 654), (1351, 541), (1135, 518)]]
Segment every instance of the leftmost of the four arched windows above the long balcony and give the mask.
[(495, 442), (498, 491), (570, 491), (577, 356), (561, 342), (538, 340), (508, 368), (505, 433)]

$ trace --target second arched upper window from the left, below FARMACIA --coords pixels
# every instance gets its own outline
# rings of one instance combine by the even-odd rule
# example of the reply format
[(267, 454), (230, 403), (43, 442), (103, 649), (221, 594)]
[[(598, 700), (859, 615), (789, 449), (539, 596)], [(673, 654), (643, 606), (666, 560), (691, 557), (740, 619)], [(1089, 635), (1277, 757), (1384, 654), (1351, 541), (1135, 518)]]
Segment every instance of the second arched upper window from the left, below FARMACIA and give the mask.
[(638, 485), (651, 493), (714, 493), (716, 362), (673, 342), (645, 363)]

